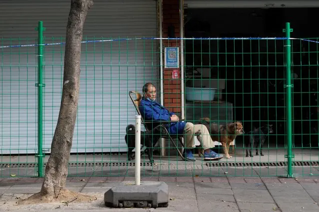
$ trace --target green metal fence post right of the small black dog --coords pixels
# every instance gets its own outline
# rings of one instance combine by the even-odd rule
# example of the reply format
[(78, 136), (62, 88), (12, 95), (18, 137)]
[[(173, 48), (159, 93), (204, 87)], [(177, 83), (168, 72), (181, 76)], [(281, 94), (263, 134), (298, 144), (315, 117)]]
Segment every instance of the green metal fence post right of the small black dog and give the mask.
[(290, 33), (293, 31), (293, 29), (290, 28), (290, 23), (286, 23), (286, 29), (283, 30), (286, 32), (286, 80), (287, 80), (287, 155), (285, 155), (286, 158), (288, 158), (288, 173), (287, 177), (293, 177), (293, 157), (292, 154), (292, 148), (293, 148), (293, 130), (292, 130), (292, 78), (291, 78), (291, 42), (290, 42)]

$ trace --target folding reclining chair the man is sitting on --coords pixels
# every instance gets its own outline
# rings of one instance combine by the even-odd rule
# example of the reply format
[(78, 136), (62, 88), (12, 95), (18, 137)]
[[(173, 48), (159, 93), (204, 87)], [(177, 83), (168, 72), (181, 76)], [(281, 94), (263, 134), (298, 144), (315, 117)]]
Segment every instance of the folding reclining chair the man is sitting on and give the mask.
[[(132, 94), (135, 94), (135, 97), (136, 97), (135, 100), (133, 99)], [(140, 101), (141, 101), (141, 98), (139, 98), (139, 97), (142, 97), (141, 94), (139, 94), (139, 93), (136, 92), (136, 91), (130, 91), (130, 92), (129, 92), (129, 96), (130, 96), (130, 98), (131, 98), (131, 100), (132, 100), (133, 105), (135, 106), (135, 109), (136, 109), (137, 113), (141, 116), (141, 124), (144, 125), (145, 129), (146, 129), (146, 130), (150, 130), (151, 127), (148, 125), (148, 124), (150, 124), (150, 123), (160, 122), (161, 124), (157, 125), (157, 126), (154, 127), (154, 128), (162, 127), (162, 128), (164, 129), (164, 131), (166, 132), (166, 134), (163, 135), (163, 136), (161, 136), (161, 138), (169, 139), (169, 140), (174, 144), (174, 146), (176, 147), (177, 152), (178, 152), (178, 154), (181, 156), (181, 158), (182, 158), (183, 160), (185, 160), (185, 157), (183, 156), (183, 154), (181, 153), (181, 151), (178, 149), (176, 143), (174, 142), (174, 139), (178, 138), (179, 142), (181, 143), (182, 149), (184, 149), (184, 143), (183, 143), (183, 140), (182, 140), (183, 135), (178, 135), (178, 136), (173, 135), (173, 136), (171, 136), (171, 135), (168, 133), (168, 131), (167, 131), (167, 129), (165, 128), (165, 126), (164, 126), (164, 124), (169, 123), (168, 121), (144, 121), (143, 115), (141, 114), (141, 112), (140, 112), (140, 110), (139, 110), (139, 108), (138, 108), (139, 105), (140, 105)], [(180, 120), (183, 120), (183, 119), (180, 119)], [(172, 121), (171, 121), (171, 122), (172, 122)], [(163, 148), (163, 147), (162, 147), (162, 148)]]

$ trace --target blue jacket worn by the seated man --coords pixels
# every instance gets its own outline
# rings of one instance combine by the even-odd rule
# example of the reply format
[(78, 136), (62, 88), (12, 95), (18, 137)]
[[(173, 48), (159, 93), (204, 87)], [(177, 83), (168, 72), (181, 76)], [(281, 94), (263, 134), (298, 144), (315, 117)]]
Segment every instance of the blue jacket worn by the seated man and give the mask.
[[(139, 106), (140, 112), (145, 121), (170, 121), (173, 112), (170, 112), (165, 107), (161, 106), (157, 102), (151, 102), (144, 97), (142, 98)], [(158, 125), (153, 123), (153, 128)], [(165, 127), (168, 130), (169, 134), (184, 134), (184, 127), (186, 122), (179, 121), (166, 124)]]

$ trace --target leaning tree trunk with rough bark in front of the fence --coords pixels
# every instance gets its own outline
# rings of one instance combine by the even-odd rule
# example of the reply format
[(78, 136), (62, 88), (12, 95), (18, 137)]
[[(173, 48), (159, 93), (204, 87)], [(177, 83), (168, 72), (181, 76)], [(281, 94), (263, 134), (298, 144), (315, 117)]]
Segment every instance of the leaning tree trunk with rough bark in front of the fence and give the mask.
[[(59, 117), (41, 191), (33, 195), (33, 198), (31, 196), (31, 199), (50, 202), (62, 196), (69, 196), (71, 193), (65, 190), (65, 185), (79, 99), (82, 30), (86, 14), (92, 5), (93, 0), (71, 0), (66, 27), (63, 89)], [(61, 195), (60, 198), (59, 195)]]

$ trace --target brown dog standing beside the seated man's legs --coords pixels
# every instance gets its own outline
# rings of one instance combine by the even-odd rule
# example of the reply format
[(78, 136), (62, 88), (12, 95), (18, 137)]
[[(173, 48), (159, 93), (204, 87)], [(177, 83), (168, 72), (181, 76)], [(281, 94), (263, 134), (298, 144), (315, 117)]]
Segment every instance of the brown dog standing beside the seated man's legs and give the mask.
[[(242, 122), (233, 122), (228, 124), (216, 124), (210, 123), (210, 119), (207, 117), (201, 118), (200, 120), (204, 120), (205, 125), (211, 134), (211, 138), (213, 141), (218, 141), (222, 143), (225, 157), (232, 158), (229, 155), (229, 145), (230, 143), (237, 137), (237, 135), (242, 135), (244, 133)], [(198, 155), (201, 156), (204, 154), (203, 149), (198, 150)]]

